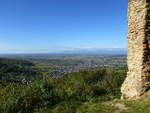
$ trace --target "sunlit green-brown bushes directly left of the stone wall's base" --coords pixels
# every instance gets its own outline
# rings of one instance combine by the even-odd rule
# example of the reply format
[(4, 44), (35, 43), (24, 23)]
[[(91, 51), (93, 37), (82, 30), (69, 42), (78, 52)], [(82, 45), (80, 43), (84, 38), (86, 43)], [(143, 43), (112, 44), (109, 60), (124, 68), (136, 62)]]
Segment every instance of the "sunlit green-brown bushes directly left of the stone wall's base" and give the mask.
[(80, 71), (59, 78), (56, 87), (66, 92), (67, 97), (76, 97), (76, 100), (90, 101), (102, 96), (102, 100), (105, 97), (107, 100), (108, 98), (120, 98), (120, 87), (125, 74), (126, 69)]

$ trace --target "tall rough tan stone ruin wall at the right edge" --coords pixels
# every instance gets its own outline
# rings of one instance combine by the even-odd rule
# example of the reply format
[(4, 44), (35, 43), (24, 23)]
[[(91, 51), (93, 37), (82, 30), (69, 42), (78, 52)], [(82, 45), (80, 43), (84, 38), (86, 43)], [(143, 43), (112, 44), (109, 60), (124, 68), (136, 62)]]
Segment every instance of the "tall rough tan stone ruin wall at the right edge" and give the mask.
[(150, 0), (128, 2), (128, 73), (122, 98), (138, 99), (150, 89)]

